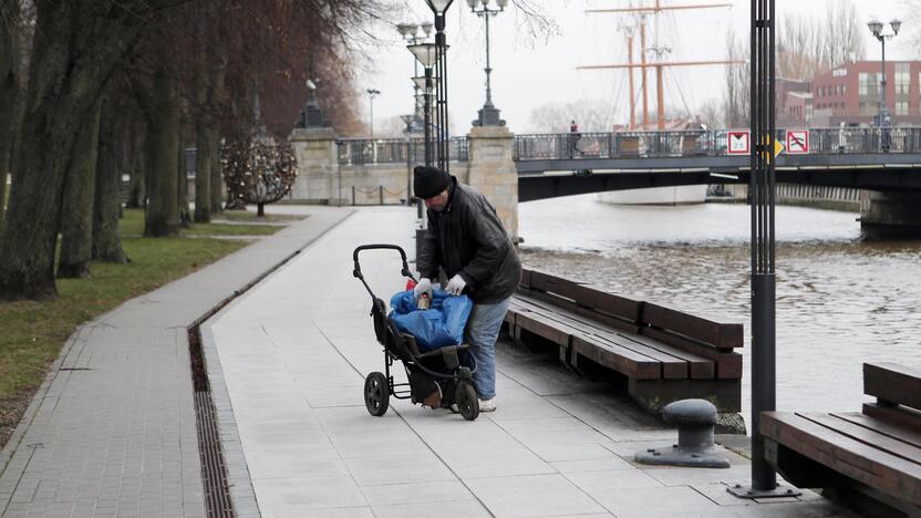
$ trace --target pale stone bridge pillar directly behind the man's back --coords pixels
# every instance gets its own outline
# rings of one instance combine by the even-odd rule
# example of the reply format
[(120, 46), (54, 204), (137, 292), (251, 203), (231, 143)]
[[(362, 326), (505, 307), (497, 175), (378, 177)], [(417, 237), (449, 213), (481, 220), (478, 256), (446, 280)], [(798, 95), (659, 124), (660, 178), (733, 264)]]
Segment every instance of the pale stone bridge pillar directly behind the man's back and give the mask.
[(483, 193), (518, 242), (518, 170), (513, 160), (515, 135), (505, 126), (470, 128), (467, 184)]

